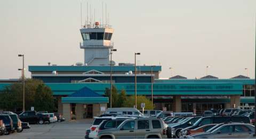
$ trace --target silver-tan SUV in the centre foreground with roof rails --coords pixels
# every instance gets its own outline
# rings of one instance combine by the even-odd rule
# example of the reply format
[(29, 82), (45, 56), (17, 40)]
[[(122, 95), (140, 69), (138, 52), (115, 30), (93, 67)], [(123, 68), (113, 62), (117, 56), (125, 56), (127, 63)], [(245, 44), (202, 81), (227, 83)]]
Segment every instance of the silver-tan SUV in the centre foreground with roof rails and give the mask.
[(97, 138), (167, 138), (167, 135), (162, 119), (138, 118), (125, 120), (114, 129), (100, 130)]

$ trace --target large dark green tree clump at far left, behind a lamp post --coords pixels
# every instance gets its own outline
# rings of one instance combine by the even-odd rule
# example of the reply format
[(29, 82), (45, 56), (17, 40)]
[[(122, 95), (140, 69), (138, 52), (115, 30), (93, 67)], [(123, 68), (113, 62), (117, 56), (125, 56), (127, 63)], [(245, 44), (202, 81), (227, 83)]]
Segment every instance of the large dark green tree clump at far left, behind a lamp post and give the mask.
[[(25, 80), (25, 110), (45, 110), (53, 112), (54, 97), (49, 86), (45, 86), (42, 80)], [(7, 111), (22, 110), (23, 108), (23, 85), (18, 83), (5, 86), (0, 92), (0, 109)], [(16, 111), (17, 112), (17, 111)]]

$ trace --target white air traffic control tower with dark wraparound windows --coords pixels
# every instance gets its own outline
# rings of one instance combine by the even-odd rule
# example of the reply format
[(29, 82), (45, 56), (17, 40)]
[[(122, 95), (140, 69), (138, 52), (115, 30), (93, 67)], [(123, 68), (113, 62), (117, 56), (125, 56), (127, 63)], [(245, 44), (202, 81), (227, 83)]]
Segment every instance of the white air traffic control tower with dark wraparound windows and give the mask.
[(93, 25), (85, 25), (80, 31), (83, 37), (80, 48), (84, 49), (84, 65), (109, 66), (109, 55), (113, 48), (111, 37), (114, 29), (95, 22)]

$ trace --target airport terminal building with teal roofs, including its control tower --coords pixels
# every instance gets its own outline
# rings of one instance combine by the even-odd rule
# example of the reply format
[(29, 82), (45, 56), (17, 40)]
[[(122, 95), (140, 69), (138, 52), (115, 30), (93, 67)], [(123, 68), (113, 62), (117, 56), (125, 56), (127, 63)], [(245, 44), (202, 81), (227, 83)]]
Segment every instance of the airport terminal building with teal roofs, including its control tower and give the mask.
[[(199, 79), (182, 76), (159, 79), (161, 66), (135, 66), (133, 63), (118, 63), (116, 66), (111, 61), (115, 50), (111, 42), (114, 30), (110, 27), (87, 24), (80, 31), (84, 63), (72, 66), (49, 63), (47, 66), (29, 66), (28, 69), (31, 78), (41, 79), (51, 87), (58, 100), (58, 113), (67, 120), (71, 119), (71, 113), (76, 119), (84, 119), (105, 112), (109, 103), (105, 89), (110, 88), (110, 82), (118, 90), (124, 88), (127, 97), (135, 94), (135, 84), (137, 95), (151, 99), (153, 93), (156, 110), (166, 108), (167, 111), (201, 115), (209, 109), (254, 109), (255, 79), (241, 75), (230, 79), (211, 75)], [(7, 84), (10, 83), (2, 81), (0, 86)]]

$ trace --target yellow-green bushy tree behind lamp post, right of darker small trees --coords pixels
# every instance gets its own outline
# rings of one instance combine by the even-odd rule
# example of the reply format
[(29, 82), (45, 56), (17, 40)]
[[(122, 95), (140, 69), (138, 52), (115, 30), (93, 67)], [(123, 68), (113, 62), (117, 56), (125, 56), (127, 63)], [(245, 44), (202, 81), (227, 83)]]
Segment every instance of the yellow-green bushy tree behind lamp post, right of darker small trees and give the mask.
[[(145, 103), (145, 110), (153, 110), (154, 106), (152, 105), (152, 102), (150, 101), (150, 99), (147, 99), (146, 96), (143, 95), (138, 95), (137, 96), (137, 109), (138, 110), (142, 110), (141, 108), (141, 103)], [(132, 107), (135, 104), (135, 96), (132, 95), (130, 97), (128, 97), (125, 101), (124, 101), (124, 107)]]

